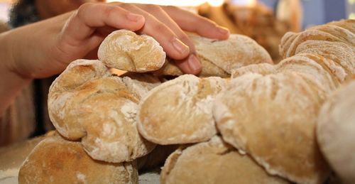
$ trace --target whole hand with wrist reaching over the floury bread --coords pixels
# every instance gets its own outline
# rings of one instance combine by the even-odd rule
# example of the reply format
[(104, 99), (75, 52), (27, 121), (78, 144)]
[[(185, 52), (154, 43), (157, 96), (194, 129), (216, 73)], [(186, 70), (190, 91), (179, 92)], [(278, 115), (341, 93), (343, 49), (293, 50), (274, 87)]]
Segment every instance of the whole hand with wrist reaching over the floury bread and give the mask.
[[(143, 4), (84, 4), (77, 11), (13, 31), (11, 70), (27, 78), (58, 74), (72, 61), (86, 57), (111, 31), (138, 31), (158, 40), (182, 71), (201, 70), (195, 48), (184, 31), (226, 39), (229, 31), (212, 21), (173, 6)], [(18, 52), (26, 50), (26, 52)], [(17, 54), (18, 53), (18, 54)]]

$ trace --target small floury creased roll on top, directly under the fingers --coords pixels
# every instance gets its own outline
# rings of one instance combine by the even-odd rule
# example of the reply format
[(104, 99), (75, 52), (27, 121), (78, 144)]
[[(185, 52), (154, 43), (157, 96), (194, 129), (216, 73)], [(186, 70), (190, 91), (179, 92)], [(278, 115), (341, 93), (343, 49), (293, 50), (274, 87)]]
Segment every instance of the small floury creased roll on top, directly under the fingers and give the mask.
[(165, 52), (154, 38), (124, 29), (109, 34), (97, 55), (105, 65), (129, 72), (154, 71), (165, 63)]

